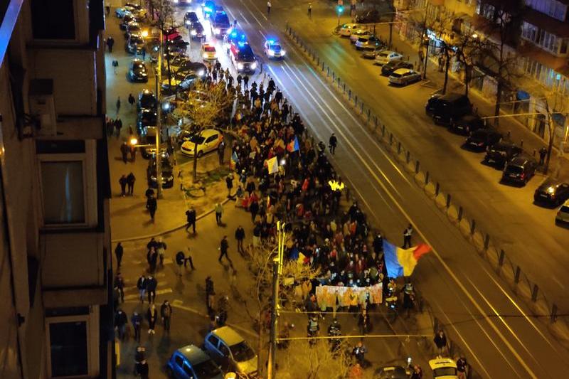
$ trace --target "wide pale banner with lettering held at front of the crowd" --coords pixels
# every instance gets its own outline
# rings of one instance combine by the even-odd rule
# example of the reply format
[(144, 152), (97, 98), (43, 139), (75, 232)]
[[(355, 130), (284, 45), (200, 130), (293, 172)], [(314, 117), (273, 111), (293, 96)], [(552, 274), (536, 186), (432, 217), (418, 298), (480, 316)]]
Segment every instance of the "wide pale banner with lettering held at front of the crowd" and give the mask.
[(370, 304), (381, 304), (383, 301), (383, 284), (370, 287), (316, 287), (316, 299), (320, 309), (334, 308), (336, 299), (339, 306), (357, 306), (365, 304), (369, 297)]

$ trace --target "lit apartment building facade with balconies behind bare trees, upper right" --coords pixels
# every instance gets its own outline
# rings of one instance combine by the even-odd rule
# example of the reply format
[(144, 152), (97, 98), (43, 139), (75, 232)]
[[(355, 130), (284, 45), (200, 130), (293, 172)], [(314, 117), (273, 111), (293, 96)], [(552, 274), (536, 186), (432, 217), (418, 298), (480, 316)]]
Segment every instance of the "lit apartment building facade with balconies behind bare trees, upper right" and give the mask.
[[(549, 108), (555, 125), (555, 147), (568, 151), (569, 0), (400, 0), (395, 4), (398, 9), (414, 9), (425, 15), (418, 18), (450, 21), (451, 34), (477, 34), (482, 38), (496, 38), (484, 33), (485, 26), (496, 22), (497, 12), (505, 9), (518, 14), (519, 25), (516, 23), (504, 50), (516, 57), (519, 80), (504, 92), (503, 109), (521, 114), (516, 118), (548, 141)], [(418, 38), (416, 28), (402, 29), (406, 38)], [(429, 37), (431, 53), (436, 54), (440, 36), (433, 32)], [(496, 80), (479, 68), (474, 68), (470, 84), (485, 96), (496, 94)]]

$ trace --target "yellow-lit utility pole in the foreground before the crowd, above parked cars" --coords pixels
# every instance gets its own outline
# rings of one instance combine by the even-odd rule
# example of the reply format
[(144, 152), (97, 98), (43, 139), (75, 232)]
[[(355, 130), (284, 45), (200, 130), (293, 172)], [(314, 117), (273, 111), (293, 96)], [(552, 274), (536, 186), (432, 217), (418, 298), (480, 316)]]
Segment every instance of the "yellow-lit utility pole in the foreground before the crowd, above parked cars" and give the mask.
[(269, 362), (267, 378), (275, 378), (275, 361), (277, 355), (277, 330), (279, 309), (279, 277), (282, 273), (282, 257), (285, 254), (285, 223), (277, 221), (277, 257), (272, 261), (272, 304), (271, 331), (269, 345)]

